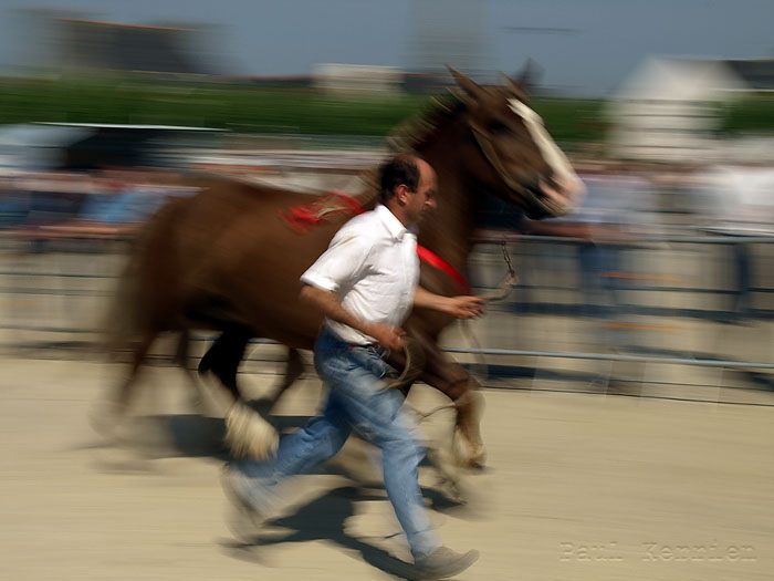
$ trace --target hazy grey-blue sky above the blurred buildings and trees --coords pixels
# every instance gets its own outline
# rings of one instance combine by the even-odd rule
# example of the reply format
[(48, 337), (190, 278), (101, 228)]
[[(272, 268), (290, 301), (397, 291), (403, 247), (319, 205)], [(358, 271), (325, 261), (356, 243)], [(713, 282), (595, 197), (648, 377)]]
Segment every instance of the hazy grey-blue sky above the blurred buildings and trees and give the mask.
[[(488, 69), (514, 72), (532, 58), (543, 83), (573, 93), (608, 93), (647, 54), (774, 56), (772, 0), (467, 1), (480, 4)], [(0, 64), (28, 50), (11, 9), (36, 6), (115, 22), (218, 24), (229, 72), (244, 75), (308, 74), (318, 62), (405, 68), (416, 27), (415, 0), (0, 0)]]

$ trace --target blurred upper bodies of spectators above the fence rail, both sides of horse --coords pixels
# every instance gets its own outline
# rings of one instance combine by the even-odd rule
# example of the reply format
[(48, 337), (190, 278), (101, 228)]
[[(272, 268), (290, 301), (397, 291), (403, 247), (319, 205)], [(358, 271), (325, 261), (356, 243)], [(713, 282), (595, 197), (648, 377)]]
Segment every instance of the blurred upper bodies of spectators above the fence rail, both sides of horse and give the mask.
[[(306, 176), (320, 172), (314, 159)], [(304, 173), (297, 159), (294, 170)], [(205, 170), (208, 168), (205, 167)], [(275, 169), (286, 180), (286, 170)], [(586, 186), (567, 216), (521, 222), (509, 208), (488, 207), (481, 227), (521, 228), (525, 234), (602, 239), (660, 236), (694, 230), (708, 235), (774, 235), (774, 167), (749, 165), (684, 167), (611, 162), (577, 163)], [(341, 169), (346, 173), (345, 168)], [(169, 196), (192, 191), (171, 169), (119, 168), (95, 173), (13, 169), (0, 173), (0, 227), (82, 220), (104, 225), (144, 221)], [(272, 180), (262, 172), (261, 179)], [(313, 178), (312, 178), (313, 179)]]

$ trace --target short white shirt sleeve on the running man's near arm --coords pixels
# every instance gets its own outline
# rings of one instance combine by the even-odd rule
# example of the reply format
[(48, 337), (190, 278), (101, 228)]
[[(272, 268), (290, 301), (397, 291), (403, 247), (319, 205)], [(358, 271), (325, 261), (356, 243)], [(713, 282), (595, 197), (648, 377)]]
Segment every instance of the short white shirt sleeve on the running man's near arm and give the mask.
[(363, 276), (372, 246), (363, 234), (339, 230), (328, 249), (301, 276), (301, 282), (331, 292), (352, 286)]

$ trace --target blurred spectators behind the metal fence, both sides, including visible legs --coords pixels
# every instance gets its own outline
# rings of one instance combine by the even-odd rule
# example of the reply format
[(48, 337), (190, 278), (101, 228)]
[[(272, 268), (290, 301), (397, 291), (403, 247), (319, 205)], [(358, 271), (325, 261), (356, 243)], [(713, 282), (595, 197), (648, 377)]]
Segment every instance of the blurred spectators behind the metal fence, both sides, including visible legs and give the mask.
[[(324, 189), (328, 176), (321, 173), (315, 178), (322, 163), (316, 156), (305, 176), (313, 185), (317, 179)], [(610, 321), (617, 317), (621, 290), (652, 282), (628, 263), (631, 248), (677, 237), (711, 240), (713, 252), (719, 250), (713, 256), (721, 257), (715, 269), (730, 289), (731, 301), (724, 310), (736, 318), (755, 312), (754, 291), (768, 284), (761, 277), (766, 270), (762, 264), (774, 248), (765, 245), (774, 240), (773, 167), (574, 162), (586, 186), (574, 211), (531, 221), (506, 206), (489, 205), (479, 216), (482, 231), (508, 228), (519, 236), (572, 242), (582, 314)], [(301, 166), (302, 160), (295, 159), (293, 173), (303, 173)], [(274, 169), (281, 183), (293, 185), (286, 183), (286, 168)], [(36, 248), (49, 239), (129, 236), (167, 199), (195, 191), (181, 185), (181, 177), (166, 168), (9, 169), (0, 175), (0, 231), (34, 240)], [(263, 172), (261, 179), (271, 181), (271, 172)], [(767, 248), (756, 258), (755, 249), (762, 246)], [(538, 251), (551, 252), (551, 248)], [(526, 267), (522, 278), (529, 277)]]

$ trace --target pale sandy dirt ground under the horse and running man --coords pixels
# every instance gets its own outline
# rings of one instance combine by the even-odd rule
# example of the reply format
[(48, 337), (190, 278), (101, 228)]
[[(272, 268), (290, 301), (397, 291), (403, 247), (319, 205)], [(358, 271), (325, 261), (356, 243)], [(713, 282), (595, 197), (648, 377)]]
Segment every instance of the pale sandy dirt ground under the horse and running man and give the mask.
[[(390, 579), (408, 559), (374, 468), (348, 444), (252, 544), (227, 521), (222, 423), (194, 413), (179, 370), (148, 371), (130, 447), (88, 416), (118, 367), (1, 360), (0, 578)], [(244, 377), (244, 376), (243, 376)], [(261, 395), (271, 376), (243, 381)], [(285, 426), (314, 413), (318, 382), (281, 403)], [(477, 548), (464, 580), (756, 580), (774, 571), (774, 422), (765, 406), (488, 391), (489, 468), (469, 502), (420, 475), (443, 541)], [(425, 386), (411, 397), (430, 409)], [(450, 416), (423, 424), (440, 440)]]

